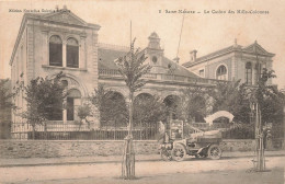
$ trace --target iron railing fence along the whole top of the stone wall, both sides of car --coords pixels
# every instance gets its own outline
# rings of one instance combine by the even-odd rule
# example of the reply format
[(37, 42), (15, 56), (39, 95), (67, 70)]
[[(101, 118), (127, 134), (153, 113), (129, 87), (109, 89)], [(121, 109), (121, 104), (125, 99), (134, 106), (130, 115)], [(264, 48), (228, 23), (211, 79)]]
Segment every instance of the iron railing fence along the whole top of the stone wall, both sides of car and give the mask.
[[(202, 129), (221, 129), (225, 139), (254, 139), (254, 125), (214, 123), (209, 127), (206, 123), (193, 123), (191, 126)], [(281, 128), (280, 128), (281, 129)], [(11, 125), (12, 137), (15, 139), (32, 139), (33, 128), (30, 124), (16, 123)], [(35, 139), (39, 140), (123, 140), (128, 134), (127, 127), (101, 127), (90, 128), (87, 124), (50, 123), (46, 126), (36, 125)], [(156, 140), (159, 136), (158, 126), (145, 125), (134, 127), (135, 140)], [(282, 136), (281, 136), (282, 135)], [(273, 139), (283, 137), (283, 134), (272, 134)]]

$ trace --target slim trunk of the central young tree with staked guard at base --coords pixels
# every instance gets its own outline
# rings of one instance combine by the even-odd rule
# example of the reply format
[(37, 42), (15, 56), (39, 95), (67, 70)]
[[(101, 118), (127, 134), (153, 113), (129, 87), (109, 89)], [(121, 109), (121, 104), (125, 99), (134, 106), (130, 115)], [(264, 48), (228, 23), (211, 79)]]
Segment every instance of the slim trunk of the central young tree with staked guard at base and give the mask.
[(135, 151), (133, 143), (133, 99), (134, 93), (129, 92), (129, 125), (128, 125), (128, 135), (124, 141), (124, 153), (122, 162), (122, 179), (133, 180), (135, 179)]

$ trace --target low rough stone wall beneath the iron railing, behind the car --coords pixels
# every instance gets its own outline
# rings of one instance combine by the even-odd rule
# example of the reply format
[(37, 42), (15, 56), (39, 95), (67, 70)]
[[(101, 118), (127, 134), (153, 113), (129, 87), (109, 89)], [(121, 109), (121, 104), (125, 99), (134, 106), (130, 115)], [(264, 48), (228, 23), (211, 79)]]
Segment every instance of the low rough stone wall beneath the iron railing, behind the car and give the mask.
[[(156, 140), (134, 141), (137, 154), (159, 152)], [(0, 140), (0, 158), (58, 158), (123, 153), (122, 140)], [(223, 151), (253, 151), (254, 140), (224, 140)]]

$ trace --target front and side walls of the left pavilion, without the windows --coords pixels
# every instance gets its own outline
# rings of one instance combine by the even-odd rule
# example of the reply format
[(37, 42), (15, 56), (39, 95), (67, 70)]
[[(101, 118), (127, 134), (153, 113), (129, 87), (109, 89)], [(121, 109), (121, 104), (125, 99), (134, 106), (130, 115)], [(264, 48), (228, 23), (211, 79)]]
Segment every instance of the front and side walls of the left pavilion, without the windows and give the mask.
[[(16, 89), (21, 82), (27, 85), (32, 79), (37, 77), (53, 78), (60, 71), (70, 81), (69, 89), (78, 89), (81, 92), (82, 100), (93, 92), (94, 88), (98, 88), (98, 30), (32, 19), (27, 19), (22, 30), (11, 65), (12, 88)], [(66, 41), (69, 37), (75, 37), (78, 41), (79, 68), (49, 66), (48, 47), (52, 35), (61, 37), (62, 53), (66, 50)], [(62, 55), (64, 61), (65, 57)], [(20, 91), (14, 103), (19, 108), (13, 113), (12, 120), (24, 123), (24, 119), (16, 115), (26, 111), (24, 92)], [(94, 124), (98, 124), (98, 118), (94, 119)]]

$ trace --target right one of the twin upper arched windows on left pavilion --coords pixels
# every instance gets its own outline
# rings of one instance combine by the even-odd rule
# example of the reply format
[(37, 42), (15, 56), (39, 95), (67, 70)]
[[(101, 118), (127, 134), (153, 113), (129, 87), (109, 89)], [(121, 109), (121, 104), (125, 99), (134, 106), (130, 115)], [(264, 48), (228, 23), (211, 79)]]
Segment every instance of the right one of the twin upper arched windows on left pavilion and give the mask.
[(79, 67), (79, 45), (77, 39), (72, 37), (67, 39), (66, 61), (67, 61), (67, 67), (70, 68)]

